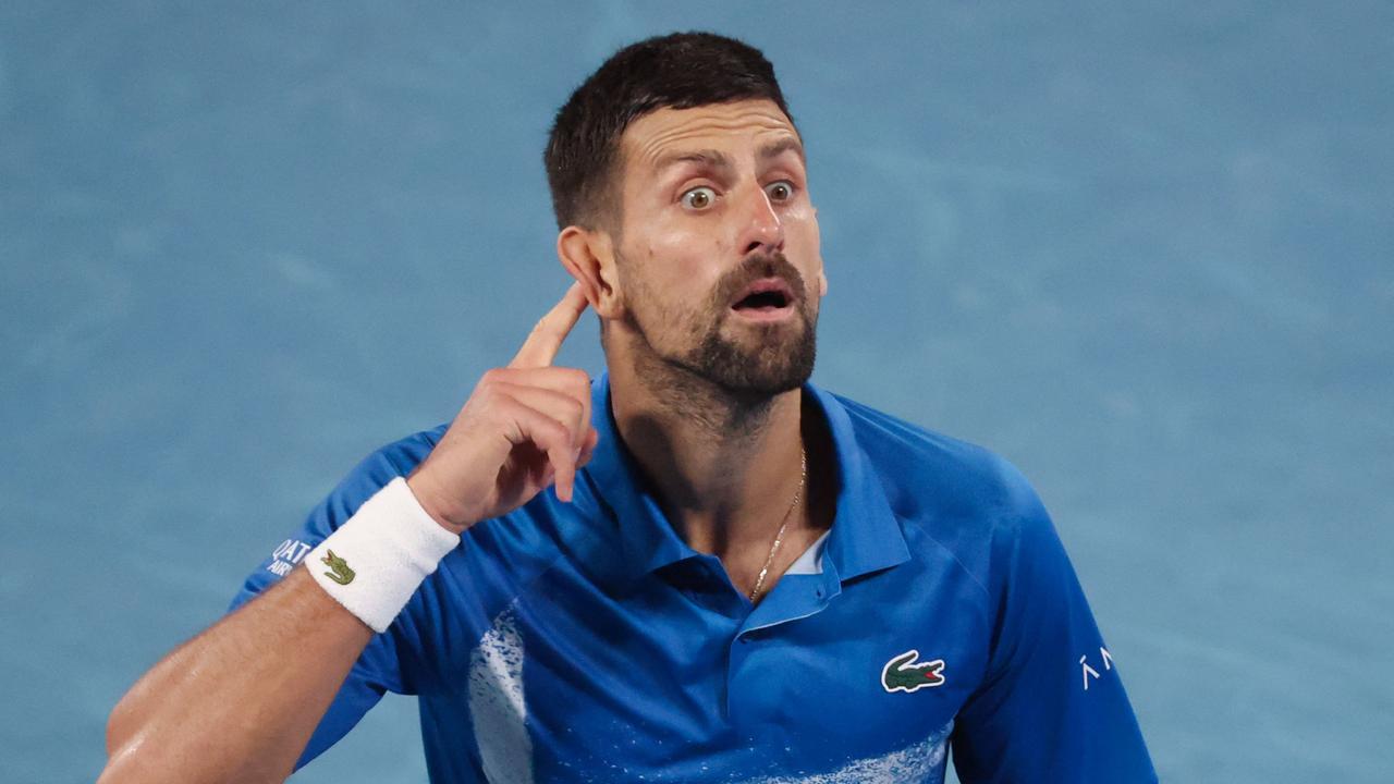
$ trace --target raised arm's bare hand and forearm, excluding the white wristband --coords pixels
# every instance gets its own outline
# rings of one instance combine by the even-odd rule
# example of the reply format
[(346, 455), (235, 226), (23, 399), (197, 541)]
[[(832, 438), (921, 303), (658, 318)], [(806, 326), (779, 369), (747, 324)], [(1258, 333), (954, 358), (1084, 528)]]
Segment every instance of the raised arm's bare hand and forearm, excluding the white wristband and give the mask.
[[(408, 478), (441, 525), (461, 532), (526, 504), (553, 476), (572, 497), (595, 448), (590, 379), (551, 367), (585, 311), (581, 287), (537, 324), (509, 367), (475, 386)], [(368, 628), (297, 568), (166, 656), (112, 711), (102, 784), (280, 781), (290, 776)]]

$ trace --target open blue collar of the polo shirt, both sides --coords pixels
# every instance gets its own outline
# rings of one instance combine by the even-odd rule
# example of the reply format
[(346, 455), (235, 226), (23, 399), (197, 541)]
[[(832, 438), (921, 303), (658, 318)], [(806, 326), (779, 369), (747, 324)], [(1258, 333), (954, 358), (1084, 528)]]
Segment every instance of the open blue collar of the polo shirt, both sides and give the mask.
[[(880, 478), (857, 445), (846, 409), (835, 395), (813, 384), (804, 384), (803, 389), (828, 423), (838, 462), (836, 512), (825, 543), (824, 568), (849, 580), (903, 564), (910, 558), (905, 534)], [(620, 558), (612, 559), (609, 571), (629, 583), (669, 564), (698, 557), (673, 530), (620, 439), (608, 372), (595, 377), (591, 395), (591, 425), (599, 432), (599, 442), (580, 477), (612, 515)]]

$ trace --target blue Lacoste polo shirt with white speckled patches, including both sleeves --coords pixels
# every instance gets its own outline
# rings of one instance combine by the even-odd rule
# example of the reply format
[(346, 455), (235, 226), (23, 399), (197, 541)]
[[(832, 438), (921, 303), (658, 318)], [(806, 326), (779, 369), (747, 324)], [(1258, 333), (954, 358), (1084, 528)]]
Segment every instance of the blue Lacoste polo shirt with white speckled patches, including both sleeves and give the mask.
[[(1046, 509), (1001, 458), (804, 386), (836, 512), (758, 607), (673, 532), (592, 384), (574, 502), (481, 522), (353, 668), (301, 764), (388, 691), (434, 781), (1156, 781)], [(360, 463), (248, 578), (287, 573), (435, 446)]]

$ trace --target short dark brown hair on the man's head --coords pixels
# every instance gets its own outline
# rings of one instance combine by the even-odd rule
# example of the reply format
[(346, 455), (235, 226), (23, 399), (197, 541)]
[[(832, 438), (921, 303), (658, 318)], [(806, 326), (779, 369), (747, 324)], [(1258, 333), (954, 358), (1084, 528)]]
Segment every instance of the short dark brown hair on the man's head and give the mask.
[(774, 66), (733, 38), (675, 32), (620, 49), (576, 88), (552, 123), (542, 159), (558, 229), (597, 229), (619, 218), (619, 140), (634, 120), (664, 107), (761, 98), (793, 123)]

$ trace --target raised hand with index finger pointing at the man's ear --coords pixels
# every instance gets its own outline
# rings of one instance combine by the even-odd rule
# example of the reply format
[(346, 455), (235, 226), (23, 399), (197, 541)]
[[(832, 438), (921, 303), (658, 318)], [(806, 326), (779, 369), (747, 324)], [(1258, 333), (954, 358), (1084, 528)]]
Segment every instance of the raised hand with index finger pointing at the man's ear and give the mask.
[(533, 328), (507, 367), (484, 374), (441, 442), (407, 477), (421, 506), (454, 533), (527, 504), (556, 480), (572, 499), (576, 470), (599, 434), (591, 428), (591, 379), (552, 367), (585, 311), (573, 283)]

